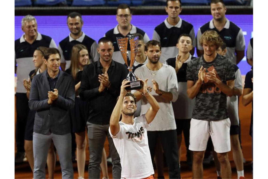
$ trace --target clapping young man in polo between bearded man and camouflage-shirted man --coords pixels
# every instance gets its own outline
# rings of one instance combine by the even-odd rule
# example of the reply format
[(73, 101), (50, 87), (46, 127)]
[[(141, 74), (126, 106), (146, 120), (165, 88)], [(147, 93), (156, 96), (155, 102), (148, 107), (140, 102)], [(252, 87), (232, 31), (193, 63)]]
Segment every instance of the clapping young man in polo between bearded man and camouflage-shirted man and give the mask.
[(181, 134), (183, 131), (185, 147), (187, 149), (187, 163), (191, 165), (191, 151), (189, 150), (189, 135), (190, 135), (190, 122), (195, 106), (195, 98), (190, 99), (187, 97), (187, 80), (186, 68), (191, 59), (194, 59), (190, 54), (192, 46), (192, 37), (189, 34), (181, 34), (177, 43), (178, 54), (176, 57), (166, 60), (166, 64), (172, 66), (177, 73), (178, 81), (178, 100), (172, 103), (175, 122), (177, 126), (177, 139), (178, 139), (178, 155), (180, 163), (181, 155)]

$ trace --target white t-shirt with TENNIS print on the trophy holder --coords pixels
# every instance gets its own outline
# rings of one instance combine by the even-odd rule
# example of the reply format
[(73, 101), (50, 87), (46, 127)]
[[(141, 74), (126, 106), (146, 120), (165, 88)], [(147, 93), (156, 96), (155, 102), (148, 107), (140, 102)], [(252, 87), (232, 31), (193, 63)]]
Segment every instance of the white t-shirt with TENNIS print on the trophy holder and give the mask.
[(154, 174), (151, 154), (148, 145), (145, 114), (134, 118), (134, 124), (119, 122), (120, 130), (113, 136), (114, 146), (120, 156), (122, 166), (121, 178), (146, 178)]

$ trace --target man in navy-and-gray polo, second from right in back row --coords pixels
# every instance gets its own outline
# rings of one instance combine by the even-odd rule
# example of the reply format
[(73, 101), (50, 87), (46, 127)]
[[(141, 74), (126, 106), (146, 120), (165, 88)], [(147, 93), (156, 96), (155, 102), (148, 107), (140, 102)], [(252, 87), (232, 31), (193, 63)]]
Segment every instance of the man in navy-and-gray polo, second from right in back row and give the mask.
[(181, 1), (167, 0), (165, 9), (168, 13), (168, 18), (155, 27), (154, 34), (152, 36), (153, 40), (161, 43), (161, 63), (165, 63), (167, 59), (177, 55), (178, 49), (176, 44), (181, 34), (189, 34), (192, 37), (193, 48), (190, 53), (193, 55), (195, 52), (195, 31), (193, 30), (193, 25), (179, 17), (182, 10)]

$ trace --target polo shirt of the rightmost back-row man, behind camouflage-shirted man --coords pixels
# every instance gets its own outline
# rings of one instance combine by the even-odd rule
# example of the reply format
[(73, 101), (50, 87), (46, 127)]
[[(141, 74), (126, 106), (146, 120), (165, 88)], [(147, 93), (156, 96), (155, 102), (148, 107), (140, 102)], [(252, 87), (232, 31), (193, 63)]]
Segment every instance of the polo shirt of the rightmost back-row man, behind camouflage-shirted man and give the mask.
[(217, 28), (215, 28), (212, 19), (198, 29), (196, 36), (198, 50), (203, 50), (203, 47), (199, 44), (199, 39), (206, 30), (215, 30), (219, 36), (221, 36), (223, 41), (226, 43), (227, 52), (225, 56), (230, 58), (232, 62), (236, 64), (235, 50), (245, 50), (245, 38), (242, 29), (226, 19), (224, 28), (219, 32)]

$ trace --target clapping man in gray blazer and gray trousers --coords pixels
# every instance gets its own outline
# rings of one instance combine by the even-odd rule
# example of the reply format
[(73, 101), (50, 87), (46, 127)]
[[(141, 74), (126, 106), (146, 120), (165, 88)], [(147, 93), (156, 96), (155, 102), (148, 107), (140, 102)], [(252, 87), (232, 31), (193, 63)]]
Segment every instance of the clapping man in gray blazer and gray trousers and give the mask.
[(60, 53), (49, 48), (44, 54), (47, 70), (35, 75), (31, 84), (29, 108), (36, 110), (33, 126), (33, 178), (45, 178), (51, 140), (57, 149), (62, 178), (73, 178), (69, 110), (75, 104), (72, 76), (60, 71)]

